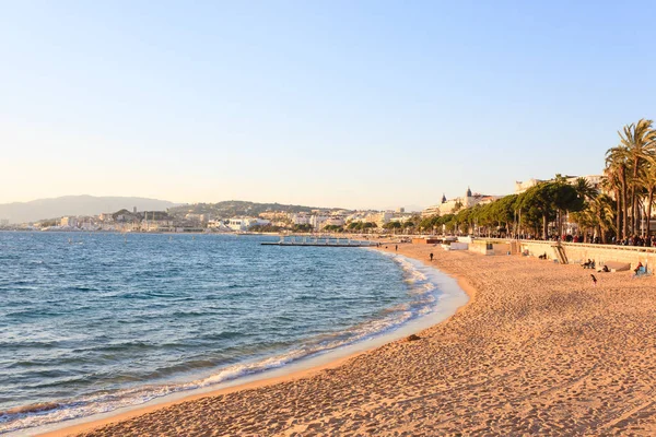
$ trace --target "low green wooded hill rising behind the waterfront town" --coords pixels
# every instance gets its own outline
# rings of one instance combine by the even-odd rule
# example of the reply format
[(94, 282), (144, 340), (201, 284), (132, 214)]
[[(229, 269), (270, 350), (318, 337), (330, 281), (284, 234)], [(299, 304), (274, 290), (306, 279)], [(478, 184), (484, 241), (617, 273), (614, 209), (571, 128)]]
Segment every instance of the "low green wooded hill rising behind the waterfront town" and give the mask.
[(257, 216), (267, 211), (279, 212), (311, 212), (312, 210), (341, 210), (340, 208), (317, 208), (290, 205), (281, 203), (256, 203), (242, 200), (226, 200), (218, 203), (194, 203), (180, 206), (175, 206), (168, 210), (171, 215), (185, 215), (187, 213), (195, 214), (211, 214), (213, 217), (234, 217), (238, 215)]

